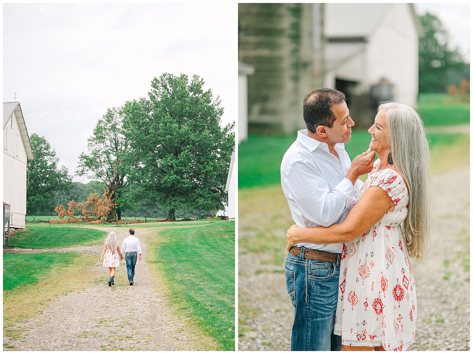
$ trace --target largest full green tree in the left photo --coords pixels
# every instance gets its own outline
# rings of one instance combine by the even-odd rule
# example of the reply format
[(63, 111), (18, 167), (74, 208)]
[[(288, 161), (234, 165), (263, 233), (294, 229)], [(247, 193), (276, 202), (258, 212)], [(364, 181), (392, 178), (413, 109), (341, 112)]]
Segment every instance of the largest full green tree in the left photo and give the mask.
[(123, 107), (130, 142), (129, 180), (137, 199), (176, 209), (222, 209), (235, 148), (234, 124), (220, 126), (223, 107), (197, 75), (165, 73), (151, 82), (149, 98)]

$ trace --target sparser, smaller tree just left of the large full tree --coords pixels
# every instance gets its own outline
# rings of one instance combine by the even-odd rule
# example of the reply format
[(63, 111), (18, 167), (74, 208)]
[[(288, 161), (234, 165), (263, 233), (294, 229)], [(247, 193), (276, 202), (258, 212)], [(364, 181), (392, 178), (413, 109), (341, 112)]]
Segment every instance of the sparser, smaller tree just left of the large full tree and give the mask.
[(115, 213), (121, 219), (121, 211), (129, 208), (124, 196), (128, 182), (123, 166), (123, 155), (128, 146), (123, 134), (122, 108), (108, 108), (88, 138), (88, 154), (82, 152), (79, 156), (76, 175), (104, 182), (112, 200), (117, 203), (110, 212), (110, 219)]

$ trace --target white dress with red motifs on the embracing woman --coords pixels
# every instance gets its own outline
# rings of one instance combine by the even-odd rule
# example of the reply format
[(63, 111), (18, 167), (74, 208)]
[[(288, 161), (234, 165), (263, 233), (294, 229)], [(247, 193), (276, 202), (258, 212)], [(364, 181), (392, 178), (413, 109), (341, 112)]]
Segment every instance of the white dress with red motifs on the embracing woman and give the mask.
[(342, 336), (343, 345), (406, 350), (414, 341), (417, 315), (414, 276), (400, 226), (409, 195), (399, 173), (377, 171), (378, 166), (379, 159), (357, 199), (368, 187), (379, 186), (394, 202), (394, 211), (343, 245), (333, 332)]

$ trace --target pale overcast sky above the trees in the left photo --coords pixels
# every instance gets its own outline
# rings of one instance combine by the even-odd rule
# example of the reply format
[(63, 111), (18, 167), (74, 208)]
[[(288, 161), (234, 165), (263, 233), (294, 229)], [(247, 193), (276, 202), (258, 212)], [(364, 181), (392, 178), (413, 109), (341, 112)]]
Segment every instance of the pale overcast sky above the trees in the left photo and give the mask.
[[(164, 72), (200, 75), (236, 120), (236, 4), (4, 4), (3, 101), (70, 175), (108, 107)], [(84, 181), (83, 177), (74, 177)]]

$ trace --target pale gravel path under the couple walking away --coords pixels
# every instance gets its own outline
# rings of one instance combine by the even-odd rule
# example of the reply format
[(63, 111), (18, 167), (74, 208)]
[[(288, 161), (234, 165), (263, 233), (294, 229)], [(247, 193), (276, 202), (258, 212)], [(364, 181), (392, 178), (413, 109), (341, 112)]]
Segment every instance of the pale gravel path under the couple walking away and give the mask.
[[(128, 236), (124, 230), (100, 230), (115, 231), (120, 244)], [(156, 292), (164, 284), (153, 277), (146, 262), (147, 232), (156, 230), (137, 231), (143, 259), (137, 261), (134, 286), (128, 284), (124, 260), (117, 268), (116, 285), (108, 286), (108, 268), (99, 263), (103, 246), (67, 248), (97, 256), (90, 274), (96, 285), (61, 296), (42, 315), (16, 324), (14, 328), (26, 329), (25, 336), (18, 340), (4, 337), (4, 350), (12, 345), (12, 350), (205, 349), (199, 342), (201, 335), (187, 327), (184, 317), (169, 309), (162, 291)]]

